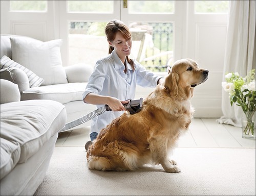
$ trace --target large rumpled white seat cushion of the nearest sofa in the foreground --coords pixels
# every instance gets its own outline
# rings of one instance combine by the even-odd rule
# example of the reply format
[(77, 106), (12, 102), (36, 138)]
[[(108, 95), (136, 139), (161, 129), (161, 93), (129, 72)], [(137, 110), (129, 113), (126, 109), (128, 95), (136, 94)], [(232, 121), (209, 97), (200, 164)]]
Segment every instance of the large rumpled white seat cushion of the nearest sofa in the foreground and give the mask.
[(1, 105), (1, 179), (33, 156), (66, 124), (65, 106), (51, 100)]

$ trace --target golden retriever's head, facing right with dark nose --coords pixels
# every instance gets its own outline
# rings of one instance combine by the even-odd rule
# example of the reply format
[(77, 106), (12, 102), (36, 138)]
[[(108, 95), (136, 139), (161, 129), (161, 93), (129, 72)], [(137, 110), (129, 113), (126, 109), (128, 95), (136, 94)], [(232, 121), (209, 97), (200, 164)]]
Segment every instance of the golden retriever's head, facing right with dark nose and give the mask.
[(164, 88), (177, 99), (187, 99), (193, 96), (194, 87), (208, 79), (208, 73), (207, 69), (200, 69), (192, 59), (178, 60), (168, 71)]

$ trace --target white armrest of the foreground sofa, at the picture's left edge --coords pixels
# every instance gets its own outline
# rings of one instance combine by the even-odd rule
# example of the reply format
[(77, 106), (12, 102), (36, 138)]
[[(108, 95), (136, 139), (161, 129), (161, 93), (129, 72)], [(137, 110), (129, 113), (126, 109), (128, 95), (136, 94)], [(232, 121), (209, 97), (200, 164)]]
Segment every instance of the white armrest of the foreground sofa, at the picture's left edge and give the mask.
[(20, 101), (20, 93), (19, 93), (17, 84), (14, 84), (9, 80), (3, 80), (3, 79), (0, 80), (0, 83), (1, 83), (0, 104)]

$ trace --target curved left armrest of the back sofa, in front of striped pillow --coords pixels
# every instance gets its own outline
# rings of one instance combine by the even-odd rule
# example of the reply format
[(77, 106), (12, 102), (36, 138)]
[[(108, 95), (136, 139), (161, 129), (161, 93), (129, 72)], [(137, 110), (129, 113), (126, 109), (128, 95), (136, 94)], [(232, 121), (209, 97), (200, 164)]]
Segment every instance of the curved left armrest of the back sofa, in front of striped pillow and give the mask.
[(29, 79), (26, 73), (17, 67), (1, 69), (0, 79), (9, 80), (18, 85), (19, 92), (29, 89)]

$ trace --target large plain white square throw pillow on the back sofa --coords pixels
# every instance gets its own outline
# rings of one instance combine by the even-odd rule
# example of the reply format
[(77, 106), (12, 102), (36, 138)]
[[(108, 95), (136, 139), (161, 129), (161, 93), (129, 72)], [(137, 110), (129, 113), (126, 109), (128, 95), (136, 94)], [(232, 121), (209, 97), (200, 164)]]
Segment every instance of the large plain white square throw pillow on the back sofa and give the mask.
[(11, 37), (12, 60), (35, 72), (43, 85), (68, 83), (62, 67), (61, 39), (42, 42), (29, 37)]

